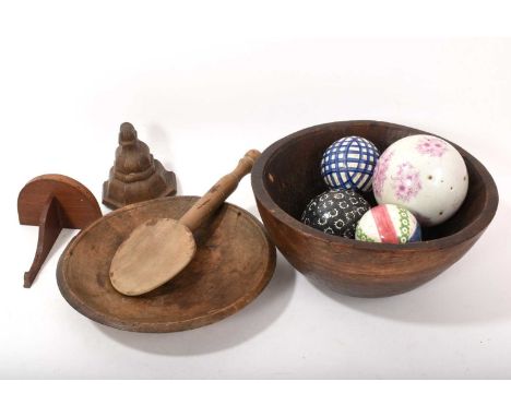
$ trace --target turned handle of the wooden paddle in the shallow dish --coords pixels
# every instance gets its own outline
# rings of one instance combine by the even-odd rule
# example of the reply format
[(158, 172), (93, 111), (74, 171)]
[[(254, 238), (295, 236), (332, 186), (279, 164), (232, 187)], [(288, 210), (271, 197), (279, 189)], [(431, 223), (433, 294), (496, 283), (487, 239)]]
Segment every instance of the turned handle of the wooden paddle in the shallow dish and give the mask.
[(235, 170), (222, 177), (210, 191), (183, 214), (179, 223), (187, 226), (191, 231), (194, 231), (236, 190), (241, 178), (252, 170), (253, 164), (260, 156), (261, 153), (259, 151), (251, 150), (247, 152), (239, 160)]

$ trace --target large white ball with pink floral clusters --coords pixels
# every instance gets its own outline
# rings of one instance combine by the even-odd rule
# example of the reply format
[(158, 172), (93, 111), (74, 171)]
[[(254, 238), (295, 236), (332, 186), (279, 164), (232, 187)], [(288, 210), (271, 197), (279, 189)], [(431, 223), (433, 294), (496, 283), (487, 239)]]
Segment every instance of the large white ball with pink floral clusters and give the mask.
[(460, 153), (429, 134), (403, 138), (380, 156), (372, 189), (378, 204), (408, 208), (423, 226), (451, 217), (465, 200), (468, 174)]

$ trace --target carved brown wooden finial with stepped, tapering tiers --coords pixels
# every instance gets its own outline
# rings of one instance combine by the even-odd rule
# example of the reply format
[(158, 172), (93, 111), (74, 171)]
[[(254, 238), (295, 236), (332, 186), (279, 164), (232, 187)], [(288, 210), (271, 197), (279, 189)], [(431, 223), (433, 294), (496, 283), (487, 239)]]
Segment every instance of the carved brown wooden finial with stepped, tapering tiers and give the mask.
[(131, 123), (120, 127), (119, 146), (109, 178), (103, 184), (103, 204), (110, 208), (175, 195), (176, 176), (153, 158)]

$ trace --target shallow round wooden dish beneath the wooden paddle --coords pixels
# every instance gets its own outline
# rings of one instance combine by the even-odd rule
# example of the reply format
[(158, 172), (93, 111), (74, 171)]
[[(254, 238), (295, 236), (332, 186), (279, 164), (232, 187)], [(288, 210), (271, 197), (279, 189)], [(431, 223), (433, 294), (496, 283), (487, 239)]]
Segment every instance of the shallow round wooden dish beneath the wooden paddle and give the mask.
[(195, 329), (248, 305), (273, 275), (275, 247), (252, 215), (227, 203), (194, 233), (195, 257), (175, 279), (139, 297), (111, 286), (111, 259), (131, 231), (148, 219), (180, 218), (197, 200), (175, 196), (133, 204), (82, 230), (59, 261), (62, 296), (90, 319), (133, 332)]

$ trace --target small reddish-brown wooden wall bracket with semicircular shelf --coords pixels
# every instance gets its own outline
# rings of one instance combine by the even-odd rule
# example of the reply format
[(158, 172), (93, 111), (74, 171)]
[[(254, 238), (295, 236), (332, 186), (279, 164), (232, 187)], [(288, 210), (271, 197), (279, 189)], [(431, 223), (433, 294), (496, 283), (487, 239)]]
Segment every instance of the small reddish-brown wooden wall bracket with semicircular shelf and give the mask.
[(22, 225), (39, 226), (34, 261), (25, 272), (23, 286), (29, 288), (62, 228), (83, 228), (102, 216), (93, 193), (74, 179), (43, 175), (31, 180), (17, 198)]

